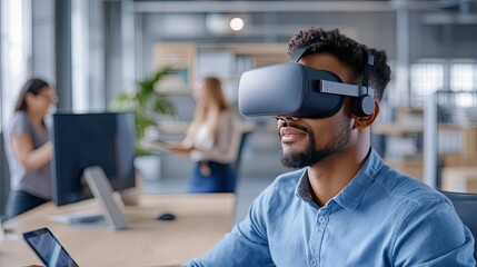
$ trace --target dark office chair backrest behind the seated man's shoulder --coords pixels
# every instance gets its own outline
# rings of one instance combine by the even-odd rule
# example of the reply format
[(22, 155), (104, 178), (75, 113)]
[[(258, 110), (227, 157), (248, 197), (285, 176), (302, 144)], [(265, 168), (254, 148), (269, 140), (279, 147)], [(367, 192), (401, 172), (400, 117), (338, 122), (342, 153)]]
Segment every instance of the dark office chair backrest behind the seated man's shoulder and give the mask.
[(453, 201), (457, 215), (464, 225), (469, 228), (476, 243), (474, 244), (474, 258), (477, 260), (477, 194), (441, 191)]

